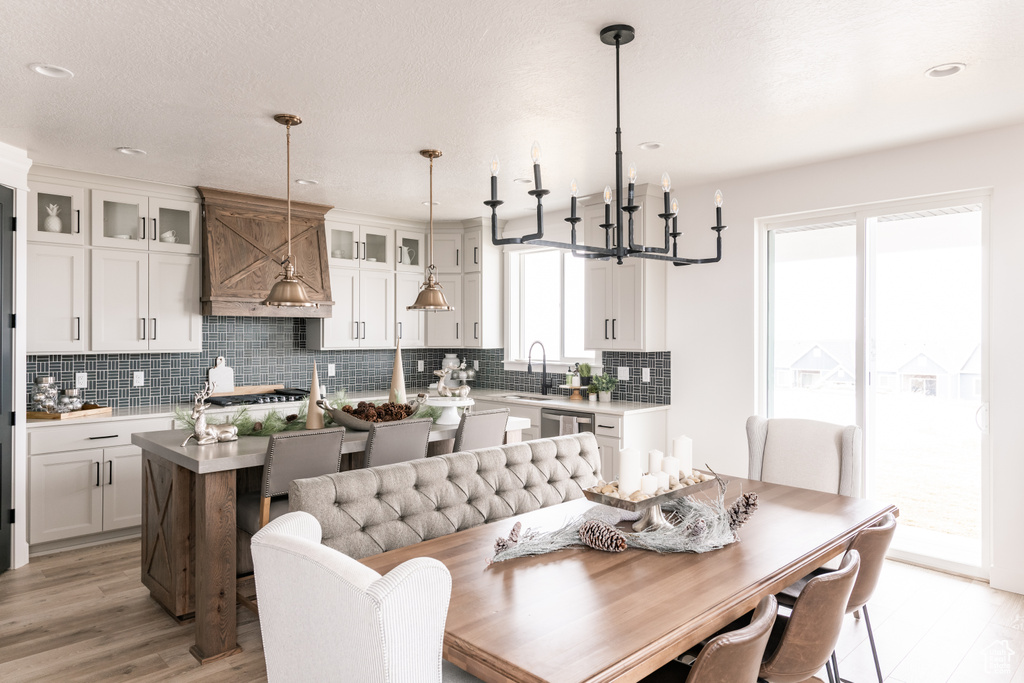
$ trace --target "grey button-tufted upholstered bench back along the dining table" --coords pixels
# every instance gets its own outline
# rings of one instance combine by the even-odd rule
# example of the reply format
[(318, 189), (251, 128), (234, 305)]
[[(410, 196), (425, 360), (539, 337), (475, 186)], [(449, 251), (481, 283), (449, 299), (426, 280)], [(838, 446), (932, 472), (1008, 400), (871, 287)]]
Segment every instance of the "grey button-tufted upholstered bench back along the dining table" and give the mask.
[(583, 498), (600, 478), (591, 433), (296, 479), (291, 511), (356, 559)]

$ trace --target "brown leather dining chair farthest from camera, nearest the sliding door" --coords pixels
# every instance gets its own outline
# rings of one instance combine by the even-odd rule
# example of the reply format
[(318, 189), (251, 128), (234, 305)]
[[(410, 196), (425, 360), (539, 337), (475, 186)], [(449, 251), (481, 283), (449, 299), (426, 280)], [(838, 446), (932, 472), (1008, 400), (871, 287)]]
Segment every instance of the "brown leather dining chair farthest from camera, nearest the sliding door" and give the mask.
[[(850, 544), (852, 550), (860, 553), (860, 571), (857, 572), (857, 581), (853, 584), (853, 592), (850, 600), (846, 604), (846, 613), (853, 612), (854, 617), (859, 616), (860, 611), (864, 612), (864, 625), (867, 627), (867, 640), (871, 645), (871, 656), (874, 657), (874, 673), (879, 677), (879, 683), (883, 683), (882, 665), (879, 663), (879, 650), (874, 646), (874, 632), (871, 630), (871, 617), (867, 613), (867, 602), (874, 594), (874, 589), (879, 585), (879, 578), (882, 575), (882, 567), (885, 564), (886, 551), (892, 543), (893, 536), (896, 535), (896, 518), (887, 514), (874, 526), (869, 526), (856, 536)], [(829, 573), (831, 569), (824, 567), (815, 569), (804, 577), (796, 584), (787, 587), (778, 594), (778, 602), (783, 606), (792, 607), (800, 598), (809, 581), (815, 577)], [(835, 658), (836, 653), (833, 652)]]

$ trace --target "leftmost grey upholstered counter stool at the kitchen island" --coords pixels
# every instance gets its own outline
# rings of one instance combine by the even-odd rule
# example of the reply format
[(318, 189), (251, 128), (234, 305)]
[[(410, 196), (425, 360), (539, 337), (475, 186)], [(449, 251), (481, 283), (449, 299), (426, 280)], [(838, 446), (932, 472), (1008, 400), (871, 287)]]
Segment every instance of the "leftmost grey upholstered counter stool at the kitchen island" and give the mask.
[[(337, 427), (270, 436), (260, 489), (240, 495), (236, 504), (239, 575), (252, 573), (250, 542), (253, 535), (271, 519), (288, 512), (288, 486), (292, 480), (340, 472), (344, 441), (345, 429)], [(240, 595), (240, 600), (252, 608), (247, 598)]]

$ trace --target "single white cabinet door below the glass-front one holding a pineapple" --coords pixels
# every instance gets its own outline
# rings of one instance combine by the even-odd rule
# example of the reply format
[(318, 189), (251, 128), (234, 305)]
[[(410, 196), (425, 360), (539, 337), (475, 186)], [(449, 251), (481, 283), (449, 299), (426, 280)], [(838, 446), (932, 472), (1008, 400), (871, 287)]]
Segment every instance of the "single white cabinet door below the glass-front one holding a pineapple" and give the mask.
[(85, 350), (85, 250), (29, 245), (28, 347), (30, 353)]

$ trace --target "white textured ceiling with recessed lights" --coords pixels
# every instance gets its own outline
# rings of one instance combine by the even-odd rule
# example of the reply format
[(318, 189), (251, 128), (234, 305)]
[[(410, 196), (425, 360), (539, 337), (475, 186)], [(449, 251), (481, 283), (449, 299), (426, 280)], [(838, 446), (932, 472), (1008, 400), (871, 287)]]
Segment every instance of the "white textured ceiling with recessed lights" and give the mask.
[[(614, 23), (637, 30), (622, 108), (640, 182), (1024, 120), (1020, 0), (22, 0), (0, 25), (0, 141), (40, 164), (281, 197), (271, 116), (294, 113), (293, 177), (319, 180), (296, 199), (425, 219), (417, 152), (432, 146), (435, 217), (483, 214), (496, 154), (512, 217), (535, 139), (550, 205), (573, 177), (583, 194), (612, 183), (614, 50), (598, 32)], [(923, 76), (948, 61), (968, 69)]]

